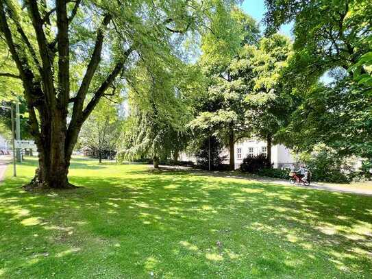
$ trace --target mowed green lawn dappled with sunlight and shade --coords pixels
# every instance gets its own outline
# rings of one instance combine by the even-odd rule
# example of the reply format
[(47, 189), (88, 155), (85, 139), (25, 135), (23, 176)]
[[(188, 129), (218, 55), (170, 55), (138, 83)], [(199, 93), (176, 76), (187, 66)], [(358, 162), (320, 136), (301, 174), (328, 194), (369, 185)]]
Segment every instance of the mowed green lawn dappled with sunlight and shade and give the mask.
[(70, 191), (0, 184), (0, 278), (372, 278), (372, 198), (99, 165)]

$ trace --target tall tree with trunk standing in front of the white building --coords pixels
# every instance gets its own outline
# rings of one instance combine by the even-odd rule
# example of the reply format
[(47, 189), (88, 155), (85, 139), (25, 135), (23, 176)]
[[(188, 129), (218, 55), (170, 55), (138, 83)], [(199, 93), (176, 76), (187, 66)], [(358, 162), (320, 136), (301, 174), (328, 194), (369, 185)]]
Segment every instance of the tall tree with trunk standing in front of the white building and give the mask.
[[(275, 134), (286, 125), (293, 109), (292, 97), (283, 84), (283, 74), (291, 55), (290, 40), (274, 34), (262, 38), (258, 47), (248, 47), (245, 53), (247, 62), (235, 68), (237, 72), (244, 72), (247, 82), (251, 84), (245, 97), (246, 121), (252, 134), (266, 141), (270, 162)], [(243, 69), (239, 67), (241, 65)]]

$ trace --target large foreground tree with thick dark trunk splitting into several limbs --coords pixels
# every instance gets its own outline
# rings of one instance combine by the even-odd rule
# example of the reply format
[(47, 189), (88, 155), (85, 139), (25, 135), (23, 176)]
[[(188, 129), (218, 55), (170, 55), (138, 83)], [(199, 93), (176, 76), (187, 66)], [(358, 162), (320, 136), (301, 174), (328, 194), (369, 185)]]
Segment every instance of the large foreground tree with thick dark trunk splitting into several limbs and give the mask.
[(0, 0), (1, 41), (17, 69), (2, 76), (19, 78), (23, 85), (39, 154), (34, 182), (68, 187), (77, 136), (101, 97), (123, 82), (136, 62), (174, 55), (179, 36), (205, 26), (208, 16), (230, 5)]

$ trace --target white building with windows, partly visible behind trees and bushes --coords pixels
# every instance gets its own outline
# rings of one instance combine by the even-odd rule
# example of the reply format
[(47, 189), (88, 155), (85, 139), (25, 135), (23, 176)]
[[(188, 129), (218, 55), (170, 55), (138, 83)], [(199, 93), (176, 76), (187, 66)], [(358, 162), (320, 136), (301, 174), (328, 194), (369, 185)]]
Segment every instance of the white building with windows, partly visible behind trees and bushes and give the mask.
[[(267, 154), (267, 144), (265, 141), (258, 141), (253, 138), (245, 139), (235, 143), (235, 169), (240, 167), (243, 159), (247, 156), (256, 156), (258, 154)], [(271, 162), (275, 168), (289, 167), (296, 162), (290, 149), (284, 145), (271, 146)]]

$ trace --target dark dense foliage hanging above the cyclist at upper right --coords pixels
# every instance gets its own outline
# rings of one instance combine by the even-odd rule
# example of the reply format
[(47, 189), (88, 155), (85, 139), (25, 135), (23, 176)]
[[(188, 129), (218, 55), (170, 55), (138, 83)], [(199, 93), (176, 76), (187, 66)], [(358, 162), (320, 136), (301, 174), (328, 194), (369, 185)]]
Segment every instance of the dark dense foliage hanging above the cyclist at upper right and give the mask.
[(299, 151), (323, 143), (343, 155), (371, 158), (371, 1), (266, 0), (266, 5), (268, 33), (294, 22), (295, 53), (284, 80), (298, 106), (280, 129), (280, 141)]

